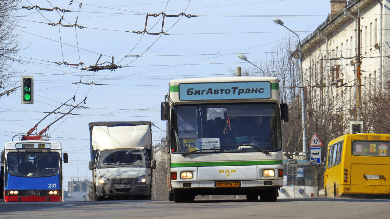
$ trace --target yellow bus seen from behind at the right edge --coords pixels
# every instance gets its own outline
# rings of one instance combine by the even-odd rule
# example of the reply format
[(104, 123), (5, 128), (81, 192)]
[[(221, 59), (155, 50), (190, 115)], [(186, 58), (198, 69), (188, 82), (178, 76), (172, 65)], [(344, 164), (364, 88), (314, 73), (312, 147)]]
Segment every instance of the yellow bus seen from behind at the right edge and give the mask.
[(389, 134), (346, 134), (329, 142), (325, 196), (390, 195)]

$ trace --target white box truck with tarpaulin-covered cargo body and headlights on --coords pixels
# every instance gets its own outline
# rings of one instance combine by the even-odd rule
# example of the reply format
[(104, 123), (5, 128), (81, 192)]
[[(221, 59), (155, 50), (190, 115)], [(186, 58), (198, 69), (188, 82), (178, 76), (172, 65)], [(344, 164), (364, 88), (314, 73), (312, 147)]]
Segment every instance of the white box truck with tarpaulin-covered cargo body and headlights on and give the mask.
[(90, 122), (92, 184), (95, 201), (151, 199), (153, 160), (149, 121)]

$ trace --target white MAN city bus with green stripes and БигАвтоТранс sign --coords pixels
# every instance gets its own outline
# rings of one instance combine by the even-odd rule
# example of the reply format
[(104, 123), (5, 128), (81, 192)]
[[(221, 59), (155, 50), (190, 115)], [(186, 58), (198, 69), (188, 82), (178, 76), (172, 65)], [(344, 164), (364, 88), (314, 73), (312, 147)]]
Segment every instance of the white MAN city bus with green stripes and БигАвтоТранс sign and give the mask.
[(276, 77), (215, 77), (170, 82), (167, 120), (169, 200), (246, 195), (276, 201), (283, 185), (282, 120)]

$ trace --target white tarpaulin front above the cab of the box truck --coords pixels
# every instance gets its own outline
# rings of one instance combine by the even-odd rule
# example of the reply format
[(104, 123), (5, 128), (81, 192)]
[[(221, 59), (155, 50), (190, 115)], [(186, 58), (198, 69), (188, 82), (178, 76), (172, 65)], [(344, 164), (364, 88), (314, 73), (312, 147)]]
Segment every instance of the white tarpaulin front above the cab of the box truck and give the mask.
[(114, 148), (147, 148), (152, 145), (149, 125), (94, 126), (92, 146), (94, 150)]

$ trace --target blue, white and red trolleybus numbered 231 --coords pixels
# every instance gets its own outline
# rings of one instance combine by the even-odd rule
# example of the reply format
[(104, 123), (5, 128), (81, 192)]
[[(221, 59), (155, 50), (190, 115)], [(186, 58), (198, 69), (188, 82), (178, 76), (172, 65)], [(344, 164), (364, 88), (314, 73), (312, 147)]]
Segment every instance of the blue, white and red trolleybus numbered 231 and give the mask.
[[(23, 137), (37, 139), (37, 136)], [(5, 143), (1, 155), (5, 202), (62, 200), (61, 143), (12, 141)], [(63, 157), (67, 163), (67, 153)]]

